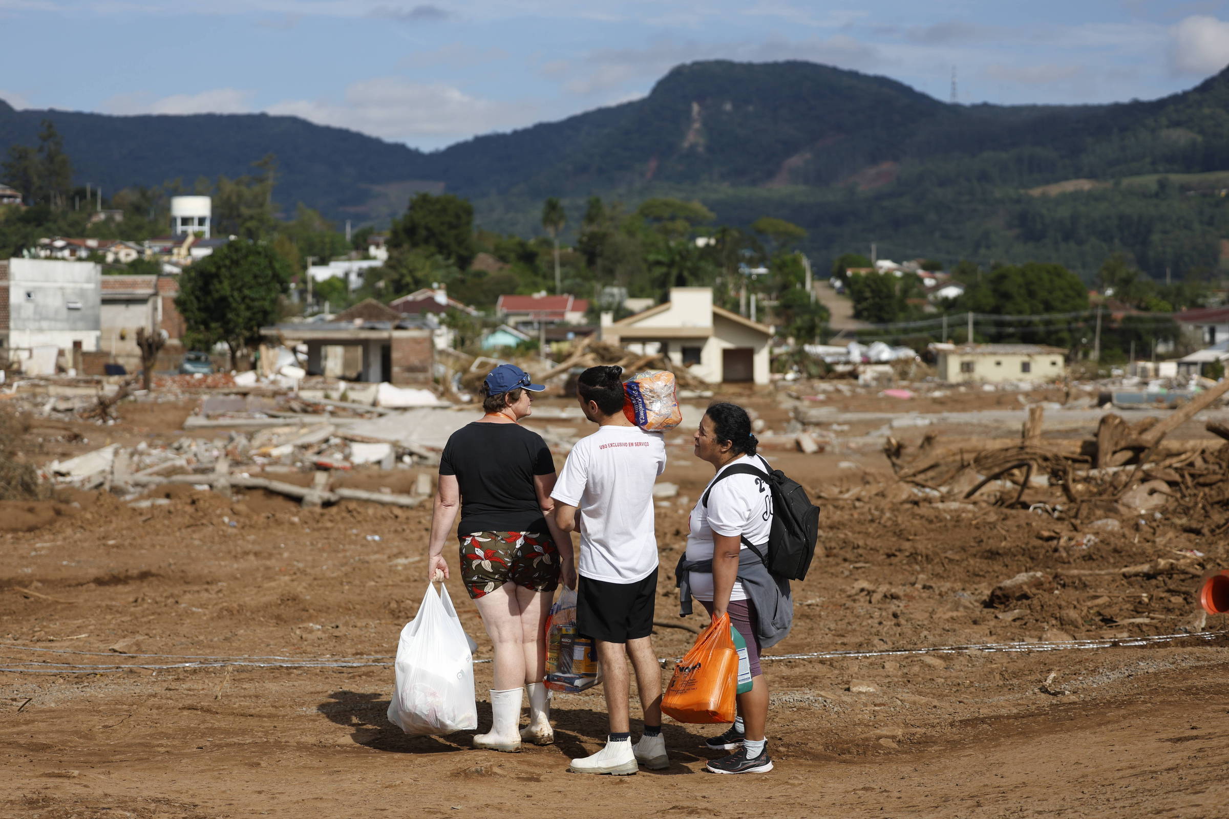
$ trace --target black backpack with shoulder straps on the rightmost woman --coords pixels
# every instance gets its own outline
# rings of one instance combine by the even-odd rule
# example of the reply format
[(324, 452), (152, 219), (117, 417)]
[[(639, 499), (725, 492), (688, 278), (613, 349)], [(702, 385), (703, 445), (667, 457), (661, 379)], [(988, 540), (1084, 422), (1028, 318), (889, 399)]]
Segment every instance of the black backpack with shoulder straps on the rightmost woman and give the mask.
[[(751, 464), (735, 464), (717, 476), (707, 490), (702, 502), (708, 508), (708, 494), (713, 491), (718, 481), (730, 475), (755, 475), (764, 479), (768, 490), (772, 492), (772, 532), (768, 534), (768, 554), (761, 551), (761, 546), (747, 540), (742, 543), (751, 551), (760, 556), (763, 565), (773, 575), (788, 580), (803, 580), (806, 570), (811, 567), (811, 557), (815, 556), (815, 543), (820, 539), (820, 507), (811, 503), (806, 496), (806, 490), (796, 480), (789, 478), (780, 469), (773, 469), (768, 462), (760, 457), (764, 469), (757, 469)], [(767, 470), (767, 475), (764, 472)]]

